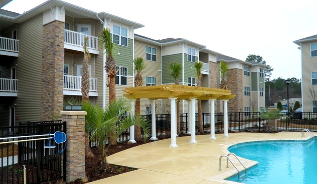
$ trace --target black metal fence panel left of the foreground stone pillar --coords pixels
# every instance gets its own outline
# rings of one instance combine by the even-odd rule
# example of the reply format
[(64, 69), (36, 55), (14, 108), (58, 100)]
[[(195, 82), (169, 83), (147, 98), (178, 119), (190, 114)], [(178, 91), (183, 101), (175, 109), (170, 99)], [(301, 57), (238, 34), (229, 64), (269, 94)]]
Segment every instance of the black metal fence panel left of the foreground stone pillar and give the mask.
[[(24, 170), (27, 184), (66, 177), (66, 143), (56, 144), (51, 139), (38, 140), (56, 131), (66, 133), (66, 122), (28, 122), (20, 123), (19, 126), (0, 127), (0, 138), (7, 138), (1, 139), (1, 142), (30, 140), (0, 144), (0, 184), (23, 184)], [(36, 135), (47, 136), (33, 137)]]

